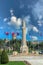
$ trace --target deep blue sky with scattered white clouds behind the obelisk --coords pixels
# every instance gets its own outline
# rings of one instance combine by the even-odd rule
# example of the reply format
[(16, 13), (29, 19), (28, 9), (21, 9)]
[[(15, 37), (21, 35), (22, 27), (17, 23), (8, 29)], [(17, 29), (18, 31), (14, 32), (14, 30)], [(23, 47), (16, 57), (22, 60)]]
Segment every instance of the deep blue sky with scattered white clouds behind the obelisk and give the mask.
[(0, 39), (4, 32), (18, 32), (22, 38), (22, 20), (26, 22), (26, 39), (43, 40), (43, 0), (0, 0)]

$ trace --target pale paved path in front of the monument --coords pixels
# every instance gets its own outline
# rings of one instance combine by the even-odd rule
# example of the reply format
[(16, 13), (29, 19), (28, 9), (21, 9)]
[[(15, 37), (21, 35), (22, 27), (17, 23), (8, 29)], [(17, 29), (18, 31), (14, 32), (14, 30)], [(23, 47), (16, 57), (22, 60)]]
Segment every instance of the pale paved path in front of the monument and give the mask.
[(31, 65), (43, 65), (43, 56), (9, 56), (9, 61), (28, 61)]

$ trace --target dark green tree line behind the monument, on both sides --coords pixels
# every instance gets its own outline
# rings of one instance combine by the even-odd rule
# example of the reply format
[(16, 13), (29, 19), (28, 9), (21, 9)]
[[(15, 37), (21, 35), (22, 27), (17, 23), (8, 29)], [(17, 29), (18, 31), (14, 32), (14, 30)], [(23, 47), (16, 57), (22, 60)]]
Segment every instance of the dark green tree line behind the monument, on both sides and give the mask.
[[(7, 43), (5, 43), (5, 41), (6, 39), (0, 40), (0, 48), (3, 48), (3, 47), (6, 48), (7, 46), (10, 48), (13, 48), (13, 51), (20, 52), (20, 46), (21, 46), (22, 40), (12, 39), (12, 40), (9, 40)], [(33, 41), (33, 42), (36, 42), (36, 44), (32, 44), (32, 41), (27, 41), (27, 46), (29, 48), (29, 51), (33, 50), (33, 47), (34, 47), (34, 50), (38, 50), (38, 46), (40, 50), (43, 50), (43, 41), (39, 42), (39, 44), (38, 44), (38, 41)]]

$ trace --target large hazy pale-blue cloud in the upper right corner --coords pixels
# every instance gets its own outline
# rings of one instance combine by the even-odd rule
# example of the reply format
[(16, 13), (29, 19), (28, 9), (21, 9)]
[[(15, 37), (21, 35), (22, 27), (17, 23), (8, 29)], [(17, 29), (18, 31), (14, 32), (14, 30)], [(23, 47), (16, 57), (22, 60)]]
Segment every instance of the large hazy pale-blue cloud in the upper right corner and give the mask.
[(33, 8), (33, 15), (35, 18), (42, 19), (43, 18), (43, 0), (39, 0)]

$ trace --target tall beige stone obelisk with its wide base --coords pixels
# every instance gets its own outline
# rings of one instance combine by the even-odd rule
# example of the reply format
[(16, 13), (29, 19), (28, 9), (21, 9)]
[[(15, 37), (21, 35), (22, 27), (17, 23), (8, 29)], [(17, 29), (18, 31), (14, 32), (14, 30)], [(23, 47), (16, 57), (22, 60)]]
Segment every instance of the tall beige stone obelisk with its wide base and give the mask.
[(26, 24), (25, 21), (22, 22), (22, 43), (20, 47), (20, 52), (21, 53), (28, 53), (28, 46), (26, 43)]

